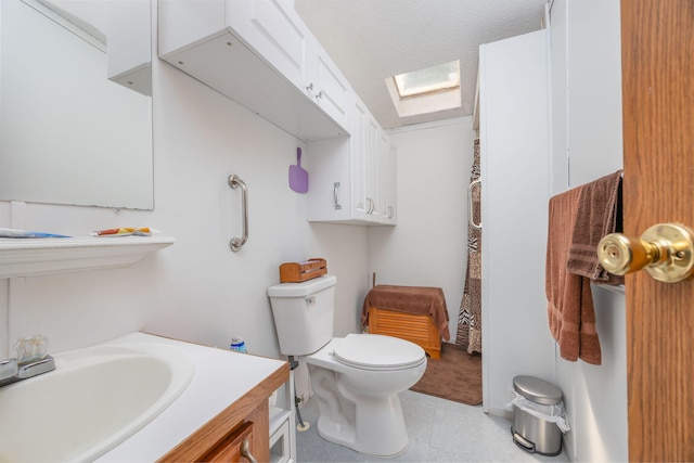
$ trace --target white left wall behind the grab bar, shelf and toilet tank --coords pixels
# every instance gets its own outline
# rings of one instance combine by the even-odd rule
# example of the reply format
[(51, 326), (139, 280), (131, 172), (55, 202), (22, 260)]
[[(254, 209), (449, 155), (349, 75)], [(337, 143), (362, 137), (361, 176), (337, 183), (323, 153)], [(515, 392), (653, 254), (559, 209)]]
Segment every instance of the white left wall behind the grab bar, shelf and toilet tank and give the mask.
[[(306, 221), (306, 196), (287, 183), (306, 146), (166, 63), (153, 66), (154, 210), (0, 203), (0, 227), (74, 235), (153, 227), (176, 244), (127, 268), (0, 280), (0, 358), (26, 334), (43, 333), (61, 351), (137, 330), (220, 347), (237, 335), (250, 352), (280, 357), (267, 287), (280, 263), (316, 256), (337, 275), (336, 332), (355, 331), (367, 229)], [(228, 244), (241, 233), (231, 173), (248, 187), (249, 239), (237, 253)]]

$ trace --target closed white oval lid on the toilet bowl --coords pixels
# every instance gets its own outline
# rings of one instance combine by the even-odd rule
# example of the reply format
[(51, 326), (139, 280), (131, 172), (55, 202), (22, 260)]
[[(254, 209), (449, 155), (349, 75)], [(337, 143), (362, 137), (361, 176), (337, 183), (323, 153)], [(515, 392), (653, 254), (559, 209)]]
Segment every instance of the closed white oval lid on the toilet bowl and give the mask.
[(333, 357), (363, 370), (401, 370), (426, 359), (424, 349), (416, 344), (380, 334), (348, 334), (335, 346)]

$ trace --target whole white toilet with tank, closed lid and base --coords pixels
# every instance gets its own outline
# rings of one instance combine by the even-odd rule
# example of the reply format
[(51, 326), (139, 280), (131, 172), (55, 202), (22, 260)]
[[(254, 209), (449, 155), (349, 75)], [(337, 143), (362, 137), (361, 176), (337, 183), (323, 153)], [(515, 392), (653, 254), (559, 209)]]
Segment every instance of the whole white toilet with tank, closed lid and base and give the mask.
[(377, 334), (333, 337), (334, 275), (271, 286), (268, 296), (285, 356), (308, 364), (325, 440), (377, 456), (409, 443), (398, 394), (426, 370), (414, 343)]

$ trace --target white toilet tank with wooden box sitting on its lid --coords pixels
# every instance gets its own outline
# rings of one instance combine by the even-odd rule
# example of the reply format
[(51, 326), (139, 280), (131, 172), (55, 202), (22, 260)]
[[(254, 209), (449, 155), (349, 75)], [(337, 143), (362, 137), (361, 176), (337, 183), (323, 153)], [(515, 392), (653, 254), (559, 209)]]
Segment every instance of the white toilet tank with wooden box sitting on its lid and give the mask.
[(268, 288), (282, 353), (307, 356), (332, 339), (336, 283), (334, 275), (324, 274)]

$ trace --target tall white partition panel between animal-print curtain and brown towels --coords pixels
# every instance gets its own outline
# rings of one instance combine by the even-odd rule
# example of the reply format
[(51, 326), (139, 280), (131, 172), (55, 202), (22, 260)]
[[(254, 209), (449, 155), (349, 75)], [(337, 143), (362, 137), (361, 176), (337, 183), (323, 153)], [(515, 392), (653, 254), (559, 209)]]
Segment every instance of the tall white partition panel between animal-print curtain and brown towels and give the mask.
[(516, 375), (554, 381), (544, 270), (548, 31), (480, 47), (484, 408), (510, 416)]

